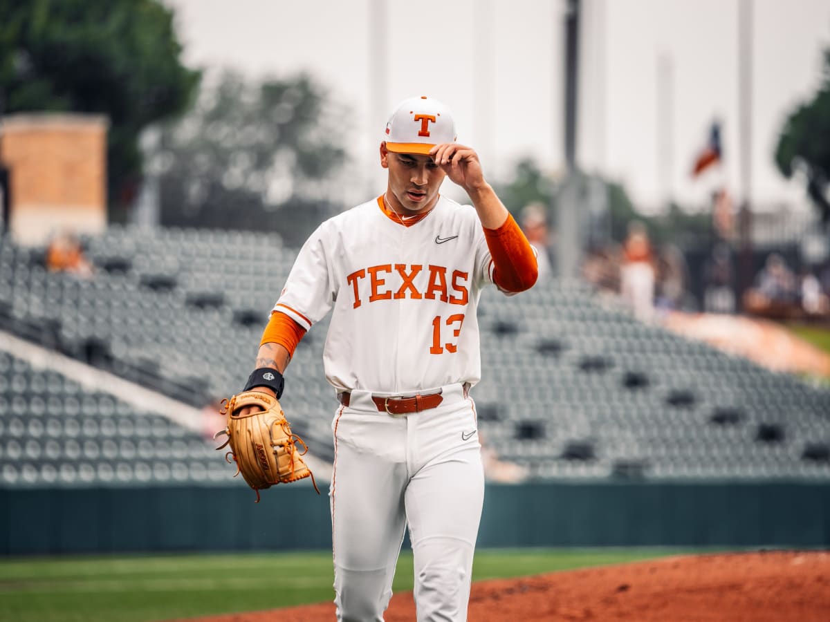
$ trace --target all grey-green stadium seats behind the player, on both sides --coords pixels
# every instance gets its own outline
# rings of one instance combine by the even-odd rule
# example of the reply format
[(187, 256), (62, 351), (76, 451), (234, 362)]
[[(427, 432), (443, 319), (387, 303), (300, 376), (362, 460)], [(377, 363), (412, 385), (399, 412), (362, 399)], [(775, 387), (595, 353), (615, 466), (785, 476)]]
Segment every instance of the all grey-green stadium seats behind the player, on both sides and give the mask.
[[(111, 227), (90, 279), (0, 238), (0, 329), (194, 406), (242, 386), (295, 249), (259, 233)], [(300, 343), (283, 405), (330, 459), (326, 320)], [(828, 479), (830, 389), (635, 321), (552, 279), (481, 299), (482, 442), (531, 479)], [(0, 485), (222, 483), (212, 444), (161, 412), (0, 352)]]

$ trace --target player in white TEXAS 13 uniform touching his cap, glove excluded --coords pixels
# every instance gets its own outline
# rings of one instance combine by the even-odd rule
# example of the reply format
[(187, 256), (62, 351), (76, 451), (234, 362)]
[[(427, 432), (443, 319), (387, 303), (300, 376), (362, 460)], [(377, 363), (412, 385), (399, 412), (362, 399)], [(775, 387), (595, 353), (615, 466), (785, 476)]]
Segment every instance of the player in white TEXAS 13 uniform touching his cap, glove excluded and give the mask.
[[(484, 496), (476, 307), (490, 284), (530, 288), (536, 258), (441, 102), (398, 105), (380, 165), (386, 191), (325, 221), (297, 255), (246, 389), (279, 397), (296, 344), (332, 313), (337, 619), (383, 620), (408, 526), (417, 620), (466, 620)], [(442, 197), (445, 177), (471, 206)]]

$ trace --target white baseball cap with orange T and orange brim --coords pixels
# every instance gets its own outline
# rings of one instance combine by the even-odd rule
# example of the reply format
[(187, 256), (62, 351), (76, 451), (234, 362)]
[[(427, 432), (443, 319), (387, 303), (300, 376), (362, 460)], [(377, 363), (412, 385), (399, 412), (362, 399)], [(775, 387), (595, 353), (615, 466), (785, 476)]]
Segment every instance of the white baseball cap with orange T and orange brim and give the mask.
[(452, 111), (438, 100), (421, 95), (403, 100), (386, 124), (386, 148), (393, 153), (426, 155), (437, 144), (455, 143)]

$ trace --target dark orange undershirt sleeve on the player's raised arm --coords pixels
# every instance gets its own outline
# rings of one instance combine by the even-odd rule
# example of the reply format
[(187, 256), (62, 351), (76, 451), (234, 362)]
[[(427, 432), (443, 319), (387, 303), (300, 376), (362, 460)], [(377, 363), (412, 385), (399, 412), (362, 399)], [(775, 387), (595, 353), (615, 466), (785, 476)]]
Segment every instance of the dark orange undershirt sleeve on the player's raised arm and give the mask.
[(539, 276), (536, 255), (520, 226), (508, 215), (498, 229), (484, 230), (487, 248), (493, 258), (493, 281), (508, 292), (530, 289)]

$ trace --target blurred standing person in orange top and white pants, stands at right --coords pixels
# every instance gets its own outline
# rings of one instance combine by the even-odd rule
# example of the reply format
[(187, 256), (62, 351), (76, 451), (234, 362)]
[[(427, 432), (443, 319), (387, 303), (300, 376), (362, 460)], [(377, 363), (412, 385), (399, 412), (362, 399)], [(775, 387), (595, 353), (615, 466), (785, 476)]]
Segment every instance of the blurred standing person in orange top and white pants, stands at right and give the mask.
[(646, 226), (641, 221), (628, 224), (620, 278), (623, 300), (633, 309), (634, 317), (650, 321), (654, 312), (654, 259)]

